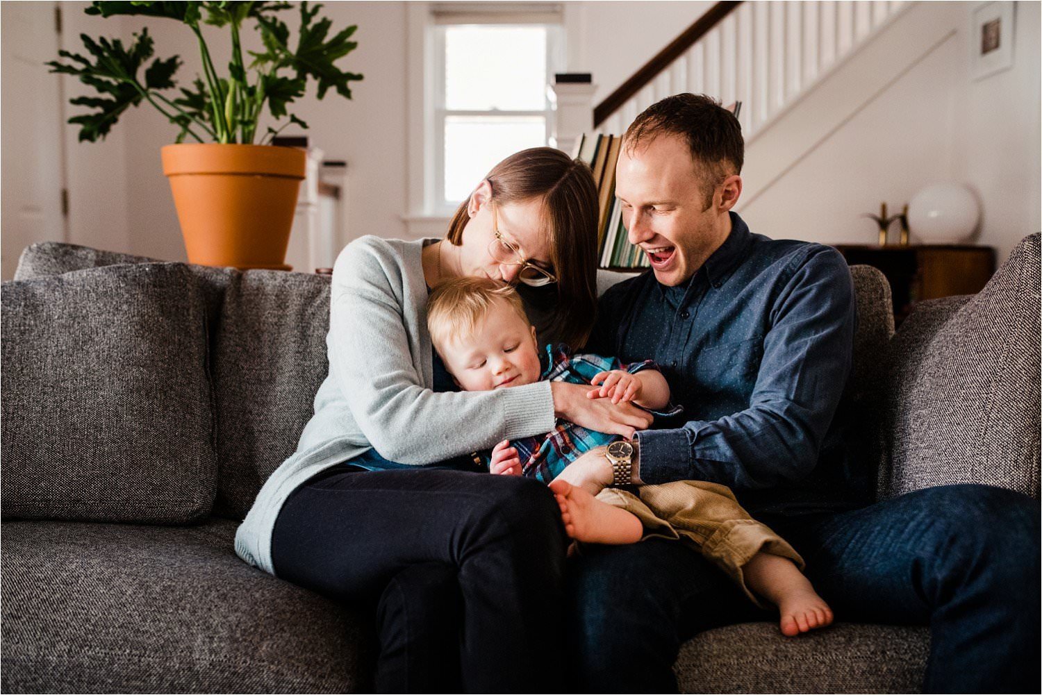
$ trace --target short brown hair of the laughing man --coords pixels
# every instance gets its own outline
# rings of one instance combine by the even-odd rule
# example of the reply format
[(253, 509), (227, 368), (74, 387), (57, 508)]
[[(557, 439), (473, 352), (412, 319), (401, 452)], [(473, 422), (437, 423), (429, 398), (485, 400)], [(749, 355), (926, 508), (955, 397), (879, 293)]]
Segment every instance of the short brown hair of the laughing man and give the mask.
[(720, 102), (704, 94), (676, 94), (645, 108), (623, 136), (626, 151), (659, 135), (683, 138), (691, 158), (699, 167), (699, 178), (709, 207), (713, 191), (727, 176), (742, 173), (745, 141), (742, 125)]

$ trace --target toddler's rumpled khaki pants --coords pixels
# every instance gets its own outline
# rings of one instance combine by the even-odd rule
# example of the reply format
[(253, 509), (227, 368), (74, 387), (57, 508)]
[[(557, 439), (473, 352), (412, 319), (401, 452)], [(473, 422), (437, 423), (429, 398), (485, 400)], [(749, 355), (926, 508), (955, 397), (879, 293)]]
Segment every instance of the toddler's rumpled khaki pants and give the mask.
[(745, 584), (742, 567), (758, 552), (788, 557), (803, 569), (803, 559), (780, 536), (749, 516), (729, 488), (680, 480), (642, 486), (640, 496), (605, 488), (597, 499), (629, 512), (644, 524), (644, 538), (683, 540), (722, 569), (753, 603), (766, 606)]

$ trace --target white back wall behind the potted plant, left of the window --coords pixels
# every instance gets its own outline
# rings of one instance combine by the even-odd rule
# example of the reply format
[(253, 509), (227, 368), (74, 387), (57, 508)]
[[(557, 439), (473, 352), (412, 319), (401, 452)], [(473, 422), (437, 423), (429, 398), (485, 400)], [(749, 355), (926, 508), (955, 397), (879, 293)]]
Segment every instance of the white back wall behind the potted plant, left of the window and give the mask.
[[(325, 152), (327, 159), (348, 163), (345, 228), (351, 237), (377, 233), (400, 237), (400, 219), (405, 200), (405, 38), (404, 5), (400, 2), (327, 3), (322, 15), (332, 20), (332, 30), (357, 24), (352, 40), (358, 47), (340, 67), (362, 73), (365, 79), (351, 82), (352, 99), (333, 91), (322, 101), (315, 99), (315, 84), (296, 106), (290, 107), (311, 126), (306, 134)], [(299, 15), (283, 13), (294, 36)], [(114, 20), (108, 20), (109, 22)], [(144, 24), (124, 18), (123, 31), (129, 33)], [(184, 81), (200, 66), (196, 42), (187, 28), (173, 22), (149, 24), (155, 36), (156, 54), (179, 54), (184, 60), (179, 75)], [(214, 27), (204, 27), (207, 44), (220, 72), (227, 64), (230, 41)], [(244, 33), (246, 49), (259, 48), (258, 34)], [(173, 142), (176, 129), (154, 109), (139, 108), (120, 123), (126, 131), (127, 219), (133, 253), (169, 259), (183, 259), (184, 248), (170, 187), (163, 175), (159, 148)], [(265, 128), (263, 127), (262, 130)], [(299, 130), (297, 131), (300, 132)], [(283, 134), (294, 133), (287, 128)], [(346, 241), (346, 240), (345, 240)]]

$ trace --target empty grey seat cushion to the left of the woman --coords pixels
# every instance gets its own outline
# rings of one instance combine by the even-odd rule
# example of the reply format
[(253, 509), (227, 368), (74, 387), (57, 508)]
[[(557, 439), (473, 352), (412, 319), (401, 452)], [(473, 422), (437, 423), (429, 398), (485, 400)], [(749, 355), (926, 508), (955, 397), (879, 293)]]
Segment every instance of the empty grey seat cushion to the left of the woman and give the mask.
[(371, 619), (244, 564), (234, 530), (3, 524), (3, 692), (369, 690)]

